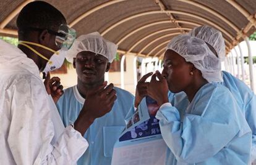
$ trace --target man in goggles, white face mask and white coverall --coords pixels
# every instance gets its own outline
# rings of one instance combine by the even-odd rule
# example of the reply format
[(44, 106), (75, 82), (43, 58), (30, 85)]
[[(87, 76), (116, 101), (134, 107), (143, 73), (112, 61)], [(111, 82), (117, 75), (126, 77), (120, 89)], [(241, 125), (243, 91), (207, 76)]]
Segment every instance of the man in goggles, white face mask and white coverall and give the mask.
[(115, 93), (113, 84), (88, 91), (77, 120), (65, 128), (39, 75), (62, 65), (74, 30), (43, 1), (23, 7), (17, 27), (18, 47), (0, 40), (0, 164), (76, 164), (88, 147), (83, 134), (113, 107), (115, 95), (100, 100)]

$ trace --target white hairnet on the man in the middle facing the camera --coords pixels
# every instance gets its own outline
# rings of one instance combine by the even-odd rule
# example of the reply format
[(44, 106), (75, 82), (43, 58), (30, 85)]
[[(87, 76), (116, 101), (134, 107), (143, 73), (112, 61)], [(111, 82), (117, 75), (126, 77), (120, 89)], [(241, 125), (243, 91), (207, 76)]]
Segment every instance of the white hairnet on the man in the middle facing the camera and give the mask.
[(116, 57), (117, 45), (104, 39), (98, 32), (84, 34), (75, 39), (74, 44), (67, 52), (67, 61), (72, 63), (73, 58), (83, 51), (103, 55), (111, 63)]

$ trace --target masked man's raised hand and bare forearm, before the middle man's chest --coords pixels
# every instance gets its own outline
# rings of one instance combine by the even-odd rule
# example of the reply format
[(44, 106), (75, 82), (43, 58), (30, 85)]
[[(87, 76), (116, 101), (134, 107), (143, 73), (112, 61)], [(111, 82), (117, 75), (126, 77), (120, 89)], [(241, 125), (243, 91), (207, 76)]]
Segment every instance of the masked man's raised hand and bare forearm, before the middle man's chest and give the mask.
[(106, 86), (106, 84), (105, 81), (101, 86), (91, 89), (86, 94), (83, 108), (74, 123), (75, 129), (82, 135), (96, 118), (100, 118), (111, 111), (114, 105), (117, 98), (116, 91), (113, 89), (114, 85), (111, 83)]

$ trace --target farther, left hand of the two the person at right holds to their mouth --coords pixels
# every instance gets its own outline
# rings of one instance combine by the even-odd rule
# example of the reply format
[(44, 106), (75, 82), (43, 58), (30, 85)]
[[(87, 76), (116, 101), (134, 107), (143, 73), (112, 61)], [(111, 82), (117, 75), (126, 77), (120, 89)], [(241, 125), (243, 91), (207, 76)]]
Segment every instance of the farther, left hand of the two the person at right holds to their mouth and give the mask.
[(136, 86), (136, 92), (135, 92), (135, 101), (134, 101), (134, 107), (138, 107), (140, 102), (142, 101), (143, 97), (148, 95), (148, 84), (149, 82), (145, 82), (147, 78), (149, 78), (153, 73), (147, 73), (145, 74), (138, 82)]

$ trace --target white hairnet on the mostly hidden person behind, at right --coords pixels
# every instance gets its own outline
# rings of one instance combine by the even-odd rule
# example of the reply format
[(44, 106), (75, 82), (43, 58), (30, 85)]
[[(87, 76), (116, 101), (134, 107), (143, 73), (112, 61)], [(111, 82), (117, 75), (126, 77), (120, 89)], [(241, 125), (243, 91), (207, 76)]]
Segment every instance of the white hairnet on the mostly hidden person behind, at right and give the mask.
[(210, 46), (215, 49), (218, 58), (221, 61), (224, 61), (226, 49), (224, 38), (220, 31), (211, 26), (203, 25), (192, 29), (189, 32), (189, 35), (203, 39), (207, 44), (210, 44)]

